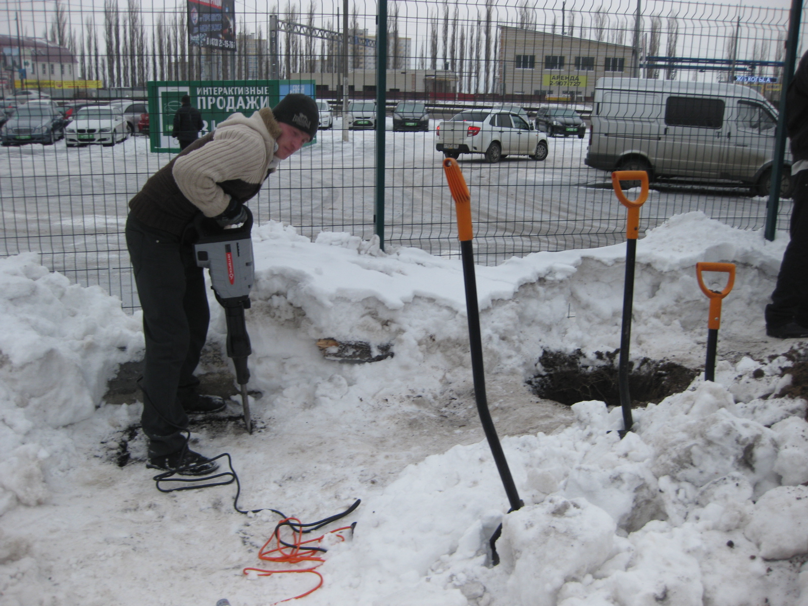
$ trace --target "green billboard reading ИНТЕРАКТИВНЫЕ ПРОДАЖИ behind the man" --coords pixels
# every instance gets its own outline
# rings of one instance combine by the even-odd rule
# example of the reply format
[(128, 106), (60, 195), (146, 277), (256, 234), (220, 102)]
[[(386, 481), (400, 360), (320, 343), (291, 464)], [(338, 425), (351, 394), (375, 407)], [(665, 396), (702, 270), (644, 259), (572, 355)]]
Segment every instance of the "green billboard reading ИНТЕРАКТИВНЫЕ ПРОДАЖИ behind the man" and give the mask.
[[(314, 99), (314, 80), (193, 80), (149, 82), (149, 137), (153, 152), (178, 154), (179, 141), (171, 137), (174, 115), (183, 95), (202, 114), (205, 135), (235, 112), (251, 116), (261, 107), (275, 107), (290, 93)], [(310, 144), (309, 144), (310, 145)]]

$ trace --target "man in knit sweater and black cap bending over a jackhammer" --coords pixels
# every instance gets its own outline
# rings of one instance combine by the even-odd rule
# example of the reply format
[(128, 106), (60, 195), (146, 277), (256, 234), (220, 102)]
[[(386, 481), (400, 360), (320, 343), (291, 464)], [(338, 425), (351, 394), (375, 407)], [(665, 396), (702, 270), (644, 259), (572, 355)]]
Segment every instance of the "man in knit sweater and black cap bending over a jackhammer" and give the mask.
[(143, 309), (143, 432), (147, 467), (203, 475), (218, 465), (187, 444), (188, 413), (222, 410), (197, 393), (196, 364), (208, 334), (208, 294), (196, 266), (194, 218), (219, 225), (246, 219), (244, 203), (264, 179), (317, 133), (314, 99), (287, 95), (273, 109), (240, 113), (194, 141), (152, 175), (129, 201), (126, 244)]

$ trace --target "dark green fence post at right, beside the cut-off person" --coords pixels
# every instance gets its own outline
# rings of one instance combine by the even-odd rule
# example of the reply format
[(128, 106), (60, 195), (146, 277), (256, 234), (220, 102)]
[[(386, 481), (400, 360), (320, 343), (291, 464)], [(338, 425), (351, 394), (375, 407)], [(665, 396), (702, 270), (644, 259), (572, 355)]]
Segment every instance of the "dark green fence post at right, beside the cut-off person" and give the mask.
[(791, 14), (789, 15), (789, 37), (785, 43), (785, 65), (783, 65), (783, 79), (780, 89), (780, 115), (777, 116), (777, 131), (774, 142), (774, 158), (772, 158), (771, 189), (766, 206), (766, 229), (764, 236), (767, 240), (774, 240), (777, 229), (777, 210), (780, 207), (780, 186), (783, 178), (783, 160), (785, 159), (785, 94), (789, 89), (794, 67), (797, 65), (797, 38), (800, 34), (800, 19), (802, 19), (802, 0), (791, 0)]

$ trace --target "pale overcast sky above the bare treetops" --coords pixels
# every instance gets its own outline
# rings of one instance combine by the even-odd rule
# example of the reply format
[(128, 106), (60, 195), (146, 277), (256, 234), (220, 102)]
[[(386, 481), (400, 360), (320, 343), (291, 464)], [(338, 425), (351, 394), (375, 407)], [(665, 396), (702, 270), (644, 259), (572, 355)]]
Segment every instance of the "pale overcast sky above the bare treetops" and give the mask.
[[(61, 0), (63, 5), (69, 7), (70, 23), (78, 29), (87, 16), (94, 15), (95, 23), (100, 25), (103, 22), (103, 0)], [(243, 28), (242, 19), (246, 19), (246, 29), (254, 31), (262, 26), (266, 31), (267, 13), (273, 6), (280, 5), (285, 8), (288, 2), (297, 6), (309, 6), (310, 0), (236, 0), (236, 12), (239, 18), (239, 27)], [(450, 11), (454, 7), (458, 8), (458, 16), (462, 19), (476, 19), (478, 11), (482, 8), (485, 0), (460, 0), (449, 4)], [(517, 5), (524, 0), (499, 0), (495, 2), (494, 19), (503, 22), (513, 23), (516, 19)], [(127, 0), (118, 0), (119, 6), (126, 6)], [(580, 25), (583, 20), (591, 17), (593, 11), (599, 7), (610, 15), (612, 27), (622, 27), (629, 30), (626, 41), (630, 43), (630, 30), (633, 29), (633, 9), (637, 0), (566, 0), (565, 19), (569, 23), (570, 12), (574, 12), (574, 19)], [(316, 25), (325, 27), (331, 21), (331, 27), (339, 27), (335, 22), (337, 11), (342, 9), (342, 0), (314, 0), (314, 6), (318, 12)], [(372, 33), (375, 30), (372, 15), (377, 8), (376, 0), (351, 0), (350, 6), (357, 6), (362, 25), (368, 27)], [(16, 34), (15, 15), (21, 15), (21, 33), (27, 36), (43, 36), (52, 19), (55, 0), (4, 0), (0, 6), (0, 32), (14, 36)], [(184, 2), (177, 0), (141, 0), (144, 11), (144, 20), (147, 25), (153, 23), (153, 15), (158, 15), (170, 11), (182, 11)], [(393, 0), (388, 2), (389, 11), (393, 10)], [(398, 8), (402, 21), (406, 22), (402, 36), (413, 39), (411, 48), (412, 54), (421, 53), (421, 48), (426, 40), (428, 27), (425, 19), (434, 11), (440, 10), (442, 2), (434, 0), (400, 0)], [(549, 31), (550, 24), (555, 19), (558, 26), (561, 24), (562, 0), (528, 0), (528, 6), (535, 6), (538, 29)], [(757, 9), (743, 9), (739, 6), (759, 7)], [(722, 4), (708, 2), (670, 2), (664, 0), (642, 0), (642, 14), (646, 17), (646, 27), (648, 27), (648, 17), (659, 15), (663, 19), (663, 31), (667, 27), (666, 19), (671, 12), (678, 14), (680, 19), (680, 48), (688, 48), (690, 53), (698, 53), (699, 57), (723, 57), (724, 40), (734, 31), (736, 19), (739, 19), (739, 11), (743, 14), (740, 17), (740, 39), (743, 40), (743, 51), (746, 54), (752, 53), (752, 47), (759, 40), (776, 40), (780, 32), (787, 23), (785, 11), (772, 9), (787, 9), (790, 7), (790, 0), (741, 0), (741, 2), (726, 2)], [(298, 9), (300, 10), (300, 9)], [(617, 19), (615, 15), (624, 15)], [(803, 15), (803, 23), (806, 16)], [(299, 17), (298, 21), (305, 22)], [(617, 24), (620, 21), (620, 24)], [(808, 32), (808, 26), (803, 26), (803, 32)], [(575, 32), (574, 35), (578, 35)], [(586, 34), (585, 34), (586, 36)], [(688, 37), (689, 36), (689, 37)], [(748, 47), (748, 48), (746, 48)], [(773, 51), (772, 51), (773, 52)], [(743, 58), (743, 57), (741, 57)]]

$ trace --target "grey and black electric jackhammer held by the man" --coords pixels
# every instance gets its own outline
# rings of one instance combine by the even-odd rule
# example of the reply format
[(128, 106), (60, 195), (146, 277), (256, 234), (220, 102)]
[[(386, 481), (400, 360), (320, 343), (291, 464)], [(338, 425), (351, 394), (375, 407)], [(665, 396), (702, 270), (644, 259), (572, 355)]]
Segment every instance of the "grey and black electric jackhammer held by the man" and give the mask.
[(247, 399), (250, 369), (247, 368), (247, 358), (252, 353), (252, 348), (244, 322), (244, 310), (250, 309), (250, 288), (255, 276), (255, 266), (250, 238), (253, 217), (250, 208), (246, 208), (246, 212), (246, 221), (239, 227), (230, 228), (220, 227), (216, 221), (205, 218), (202, 213), (197, 215), (195, 225), (199, 240), (194, 245), (194, 252), (196, 265), (208, 268), (216, 300), (225, 308), (227, 356), (236, 367), (236, 381), (242, 393), (244, 423), (251, 434), (250, 401)]

